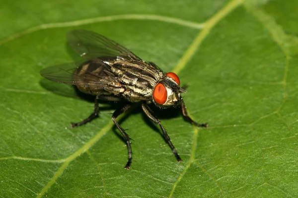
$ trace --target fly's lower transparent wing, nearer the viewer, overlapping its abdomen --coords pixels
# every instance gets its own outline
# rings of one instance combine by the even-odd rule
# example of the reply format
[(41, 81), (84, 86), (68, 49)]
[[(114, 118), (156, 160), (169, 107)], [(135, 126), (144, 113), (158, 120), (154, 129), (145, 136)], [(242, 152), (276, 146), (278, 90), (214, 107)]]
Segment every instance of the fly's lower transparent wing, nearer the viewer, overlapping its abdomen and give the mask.
[(84, 63), (68, 63), (47, 67), (40, 75), (59, 83), (106, 89), (121, 87), (117, 78), (110, 72), (110, 66), (96, 59)]

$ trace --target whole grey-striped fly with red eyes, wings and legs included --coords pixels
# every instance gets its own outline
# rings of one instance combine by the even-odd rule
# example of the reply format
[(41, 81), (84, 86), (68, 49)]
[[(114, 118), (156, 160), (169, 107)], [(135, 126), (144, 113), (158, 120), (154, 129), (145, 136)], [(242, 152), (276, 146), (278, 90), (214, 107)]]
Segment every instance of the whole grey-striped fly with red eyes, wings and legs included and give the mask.
[(159, 125), (177, 161), (182, 161), (149, 107), (150, 103), (160, 108), (180, 105), (187, 121), (199, 127), (207, 127), (207, 124), (198, 124), (188, 116), (180, 96), (180, 92), (186, 91), (179, 87), (178, 76), (173, 72), (165, 74), (154, 63), (142, 60), (123, 46), (94, 32), (74, 30), (67, 35), (67, 40), (84, 61), (48, 67), (41, 70), (40, 74), (52, 81), (75, 85), (79, 91), (96, 96), (94, 112), (81, 122), (72, 123), (72, 127), (85, 124), (98, 116), (98, 100), (123, 101), (125, 104), (113, 113), (112, 119), (126, 140), (128, 162), (125, 168), (129, 169), (132, 161), (130, 139), (116, 118), (129, 109), (132, 103), (139, 103), (146, 115)]

